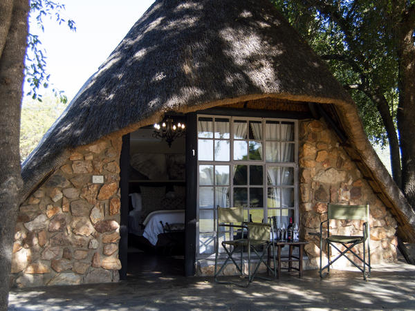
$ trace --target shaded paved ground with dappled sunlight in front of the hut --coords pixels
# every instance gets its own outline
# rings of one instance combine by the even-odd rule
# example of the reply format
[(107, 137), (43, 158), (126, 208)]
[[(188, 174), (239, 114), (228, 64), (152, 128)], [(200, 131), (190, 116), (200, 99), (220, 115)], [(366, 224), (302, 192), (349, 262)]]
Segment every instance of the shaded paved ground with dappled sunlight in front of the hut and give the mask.
[(10, 310), (415, 310), (415, 266), (376, 266), (369, 281), (358, 272), (332, 270), (325, 279), (254, 281), (249, 288), (212, 278), (161, 274), (111, 284), (12, 290)]

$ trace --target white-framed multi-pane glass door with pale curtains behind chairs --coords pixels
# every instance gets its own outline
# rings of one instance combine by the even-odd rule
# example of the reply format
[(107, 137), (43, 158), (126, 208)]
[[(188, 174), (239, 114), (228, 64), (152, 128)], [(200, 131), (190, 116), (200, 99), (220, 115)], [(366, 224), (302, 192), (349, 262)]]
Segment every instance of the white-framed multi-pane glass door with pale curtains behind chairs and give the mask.
[(214, 253), (217, 205), (242, 206), (247, 221), (298, 221), (296, 120), (198, 115), (197, 124), (199, 257)]

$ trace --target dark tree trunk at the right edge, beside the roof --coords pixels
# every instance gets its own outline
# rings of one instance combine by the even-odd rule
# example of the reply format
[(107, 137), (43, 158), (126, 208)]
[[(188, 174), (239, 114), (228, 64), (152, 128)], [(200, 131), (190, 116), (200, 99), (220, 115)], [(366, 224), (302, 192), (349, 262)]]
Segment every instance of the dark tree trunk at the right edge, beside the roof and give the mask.
[(403, 191), (415, 209), (415, 5), (403, 13), (399, 25), (398, 130), (402, 151)]

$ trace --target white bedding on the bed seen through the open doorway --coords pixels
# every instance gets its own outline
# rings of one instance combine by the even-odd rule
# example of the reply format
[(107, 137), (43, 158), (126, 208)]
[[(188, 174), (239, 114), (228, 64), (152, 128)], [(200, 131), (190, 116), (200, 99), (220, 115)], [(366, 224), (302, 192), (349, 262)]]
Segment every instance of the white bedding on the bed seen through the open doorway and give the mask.
[(165, 223), (185, 223), (185, 210), (161, 210), (152, 211), (142, 222), (145, 225), (144, 236), (152, 244), (156, 245), (158, 234), (163, 233), (163, 227), (160, 224), (160, 220)]

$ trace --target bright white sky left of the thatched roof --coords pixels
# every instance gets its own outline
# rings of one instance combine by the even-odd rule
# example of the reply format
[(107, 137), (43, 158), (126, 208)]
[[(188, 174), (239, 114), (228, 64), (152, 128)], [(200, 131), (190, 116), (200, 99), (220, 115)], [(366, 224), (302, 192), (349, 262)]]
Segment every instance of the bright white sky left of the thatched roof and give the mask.
[(73, 19), (76, 31), (47, 18), (43, 33), (36, 27), (30, 32), (39, 35), (46, 50), (50, 84), (71, 101), (154, 0), (58, 1), (66, 7), (62, 17)]

